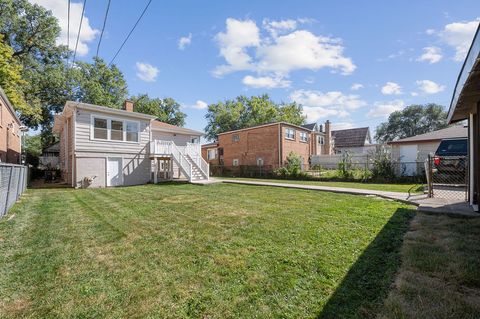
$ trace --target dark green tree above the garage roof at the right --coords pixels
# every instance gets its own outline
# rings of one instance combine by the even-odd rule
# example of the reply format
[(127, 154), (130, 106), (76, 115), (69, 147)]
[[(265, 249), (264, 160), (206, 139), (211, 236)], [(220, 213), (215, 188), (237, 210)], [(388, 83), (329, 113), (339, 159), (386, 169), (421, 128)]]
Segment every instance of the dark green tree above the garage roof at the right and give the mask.
[(377, 127), (375, 139), (385, 143), (447, 127), (444, 107), (434, 103), (410, 105), (390, 114), (388, 121)]

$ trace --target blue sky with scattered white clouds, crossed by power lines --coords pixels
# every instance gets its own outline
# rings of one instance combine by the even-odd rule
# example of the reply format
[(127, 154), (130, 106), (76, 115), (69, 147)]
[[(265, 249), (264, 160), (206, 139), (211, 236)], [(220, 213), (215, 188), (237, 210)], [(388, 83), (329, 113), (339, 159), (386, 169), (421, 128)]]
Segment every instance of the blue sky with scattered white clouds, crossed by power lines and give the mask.
[[(67, 0), (52, 10), (66, 42)], [(83, 2), (72, 1), (74, 43)], [(112, 1), (100, 57), (110, 61), (147, 1)], [(87, 1), (79, 60), (95, 55), (107, 0)], [(130, 94), (173, 97), (203, 130), (208, 103), (268, 93), (308, 121), (370, 126), (413, 103), (448, 107), (480, 17), (477, 1), (159, 1), (115, 63)]]

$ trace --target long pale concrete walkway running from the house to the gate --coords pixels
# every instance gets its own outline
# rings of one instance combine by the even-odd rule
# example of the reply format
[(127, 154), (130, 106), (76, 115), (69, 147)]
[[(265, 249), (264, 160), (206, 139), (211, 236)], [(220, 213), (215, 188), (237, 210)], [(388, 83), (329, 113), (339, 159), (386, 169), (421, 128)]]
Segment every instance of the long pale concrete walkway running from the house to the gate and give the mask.
[(331, 187), (320, 185), (307, 185), (307, 184), (291, 184), (282, 182), (264, 182), (264, 181), (244, 181), (233, 179), (221, 179), (215, 178), (215, 181), (221, 181), (222, 183), (229, 184), (242, 184), (242, 185), (255, 185), (255, 186), (272, 186), (272, 187), (284, 187), (284, 188), (296, 188), (306, 190), (317, 190), (333, 193), (343, 193), (352, 195), (364, 195), (364, 196), (378, 196), (381, 198), (392, 199), (402, 203), (411, 204), (417, 206), (418, 211), (428, 213), (442, 213), (442, 214), (454, 214), (462, 216), (480, 217), (480, 214), (474, 212), (472, 207), (465, 202), (449, 201), (443, 198), (428, 198), (425, 194), (414, 194), (401, 192), (386, 192), (371, 189), (358, 189), (358, 188), (346, 188), (346, 187)]

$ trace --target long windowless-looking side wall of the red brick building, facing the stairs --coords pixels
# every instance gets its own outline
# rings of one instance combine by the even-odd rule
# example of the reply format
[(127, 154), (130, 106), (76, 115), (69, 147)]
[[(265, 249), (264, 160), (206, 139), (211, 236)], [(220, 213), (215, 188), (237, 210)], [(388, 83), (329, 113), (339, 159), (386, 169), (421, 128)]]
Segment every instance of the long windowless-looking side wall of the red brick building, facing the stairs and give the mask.
[[(261, 157), (264, 165), (278, 167), (278, 128), (279, 124), (273, 124), (219, 135), (224, 165), (232, 166), (234, 159), (239, 165), (257, 165)], [(238, 135), (238, 141), (233, 140), (234, 135)]]

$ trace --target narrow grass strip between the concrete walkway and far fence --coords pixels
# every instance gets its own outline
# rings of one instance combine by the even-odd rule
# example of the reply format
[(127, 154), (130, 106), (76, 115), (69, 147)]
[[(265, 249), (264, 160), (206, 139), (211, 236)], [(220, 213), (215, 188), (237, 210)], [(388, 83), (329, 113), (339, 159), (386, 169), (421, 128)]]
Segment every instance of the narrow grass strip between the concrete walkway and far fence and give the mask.
[(386, 192), (401, 192), (401, 193), (423, 193), (423, 185), (419, 184), (375, 184), (375, 183), (360, 183), (360, 182), (326, 182), (326, 181), (299, 181), (286, 179), (264, 179), (264, 178), (241, 178), (241, 177), (219, 177), (220, 179), (235, 179), (245, 181), (264, 181), (271, 183), (290, 183), (303, 185), (318, 185), (330, 187), (347, 187), (356, 189), (371, 189)]

